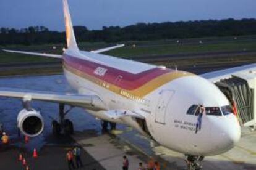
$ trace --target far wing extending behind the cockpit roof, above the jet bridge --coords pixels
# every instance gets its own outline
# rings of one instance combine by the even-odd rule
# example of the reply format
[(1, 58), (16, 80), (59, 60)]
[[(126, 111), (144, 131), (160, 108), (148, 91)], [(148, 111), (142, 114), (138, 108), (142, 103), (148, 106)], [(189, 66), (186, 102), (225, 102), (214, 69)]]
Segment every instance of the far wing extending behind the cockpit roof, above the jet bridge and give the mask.
[(210, 73), (205, 73), (200, 76), (206, 78), (213, 83), (220, 81), (221, 79), (231, 78), (233, 75), (237, 73), (246, 73), (246, 74), (254, 74), (256, 76), (256, 63), (250, 65), (243, 65), (240, 67), (233, 67), (219, 71), (213, 71)]

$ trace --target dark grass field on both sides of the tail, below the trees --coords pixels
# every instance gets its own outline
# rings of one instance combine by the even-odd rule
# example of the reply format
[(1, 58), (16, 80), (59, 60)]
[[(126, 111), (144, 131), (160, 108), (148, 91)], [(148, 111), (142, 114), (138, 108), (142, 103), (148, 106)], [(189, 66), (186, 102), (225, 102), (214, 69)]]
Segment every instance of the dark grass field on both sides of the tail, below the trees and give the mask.
[[(200, 43), (202, 41), (202, 43)], [(194, 38), (182, 39), (177, 43), (177, 39), (161, 40), (161, 41), (129, 41), (124, 42), (125, 47), (105, 52), (105, 54), (117, 57), (133, 58), (148, 57), (166, 54), (184, 54), (184, 53), (200, 53), (200, 52), (221, 52), (221, 51), (250, 51), (256, 50), (256, 36), (239, 36), (226, 38)], [(135, 44), (135, 47), (133, 45)], [(92, 49), (100, 49), (103, 47), (113, 46), (105, 42), (79, 43), (80, 49), (90, 51)], [(56, 49), (53, 49), (53, 46)], [(61, 54), (64, 44), (45, 44), (36, 46), (7, 46), (5, 49), (18, 49), (23, 51), (46, 52), (51, 54)], [(23, 54), (10, 54), (0, 52), (0, 65), (11, 63), (32, 63), (32, 62), (55, 62), (58, 59), (49, 59), (45, 57), (33, 57)]]

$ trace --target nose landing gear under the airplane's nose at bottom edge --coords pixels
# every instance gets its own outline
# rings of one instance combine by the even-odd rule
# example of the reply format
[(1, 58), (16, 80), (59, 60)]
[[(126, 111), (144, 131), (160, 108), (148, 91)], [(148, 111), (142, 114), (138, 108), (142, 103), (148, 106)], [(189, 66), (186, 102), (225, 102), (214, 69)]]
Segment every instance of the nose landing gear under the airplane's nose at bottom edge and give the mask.
[(203, 168), (202, 161), (204, 156), (185, 155), (185, 161), (187, 163), (187, 169), (200, 170)]

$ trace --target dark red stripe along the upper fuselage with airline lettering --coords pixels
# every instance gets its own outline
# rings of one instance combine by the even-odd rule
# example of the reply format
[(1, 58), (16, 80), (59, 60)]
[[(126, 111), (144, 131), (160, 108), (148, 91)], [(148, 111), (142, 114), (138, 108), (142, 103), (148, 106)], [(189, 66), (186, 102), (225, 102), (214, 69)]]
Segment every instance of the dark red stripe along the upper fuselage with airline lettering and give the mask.
[[(152, 68), (150, 70), (134, 74), (106, 65), (101, 65), (99, 63), (90, 62), (88, 60), (79, 59), (77, 57), (70, 57), (68, 55), (64, 55), (63, 60), (66, 65), (74, 68), (75, 70), (79, 70), (82, 73), (86, 73), (87, 75), (101, 79), (106, 83), (114, 84), (126, 90), (137, 89), (138, 87), (142, 86), (145, 83), (148, 83), (148, 81), (151, 81), (152, 79), (155, 79), (160, 75), (174, 71), (170, 69)], [(107, 69), (104, 76), (99, 76), (94, 73), (94, 71), (98, 67)], [(119, 83), (117, 84), (118, 76), (122, 76), (122, 80), (119, 81)]]

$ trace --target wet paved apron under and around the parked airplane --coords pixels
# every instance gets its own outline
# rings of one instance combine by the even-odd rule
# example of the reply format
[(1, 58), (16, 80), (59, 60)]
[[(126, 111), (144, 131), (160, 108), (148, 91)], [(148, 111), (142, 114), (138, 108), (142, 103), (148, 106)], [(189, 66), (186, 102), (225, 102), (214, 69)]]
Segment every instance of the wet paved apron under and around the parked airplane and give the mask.
[[(1, 78), (0, 87), (74, 92), (63, 75)], [(0, 99), (0, 122), (4, 123), (12, 141), (10, 150), (0, 152), (0, 169), (22, 169), (20, 162), (17, 161), (19, 152), (25, 152), (28, 162), (34, 169), (67, 169), (66, 150), (77, 143), (84, 148), (82, 153), (84, 169), (109, 169), (109, 166), (119, 169), (123, 154), (130, 158), (133, 165), (135, 164), (133, 167), (137, 167), (139, 161), (147, 162), (148, 157), (153, 156), (155, 160), (160, 161), (162, 167), (166, 167), (164, 169), (186, 169), (183, 155), (159, 146), (129, 127), (118, 125), (119, 131), (114, 132), (116, 135), (102, 134), (100, 122), (85, 114), (80, 108), (74, 108), (67, 115), (67, 118), (74, 122), (75, 135), (72, 138), (53, 137), (51, 121), (58, 118), (58, 105), (34, 101), (32, 107), (41, 111), (45, 119), (45, 131), (40, 136), (30, 139), (29, 144), (23, 144), (23, 140), (17, 136), (15, 127), (17, 114), (22, 109), (20, 100)], [(256, 169), (256, 132), (244, 129), (242, 136), (241, 142), (230, 152), (207, 157), (203, 164), (205, 169)], [(37, 160), (31, 158), (35, 147), (40, 154)], [(109, 154), (104, 151), (108, 148), (113, 149), (113, 151), (109, 150)], [(111, 154), (113, 156), (109, 156)]]

